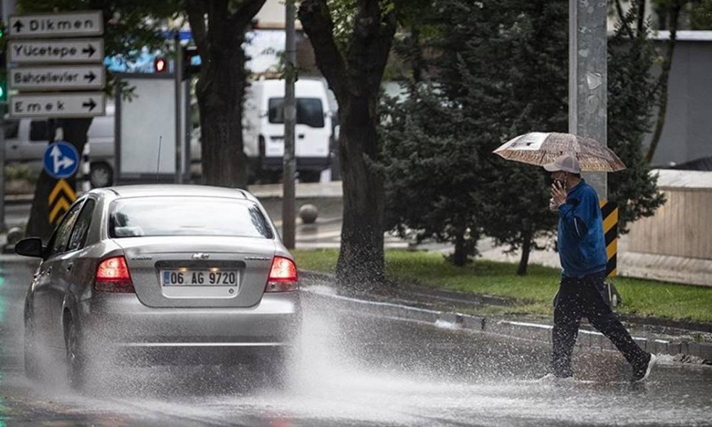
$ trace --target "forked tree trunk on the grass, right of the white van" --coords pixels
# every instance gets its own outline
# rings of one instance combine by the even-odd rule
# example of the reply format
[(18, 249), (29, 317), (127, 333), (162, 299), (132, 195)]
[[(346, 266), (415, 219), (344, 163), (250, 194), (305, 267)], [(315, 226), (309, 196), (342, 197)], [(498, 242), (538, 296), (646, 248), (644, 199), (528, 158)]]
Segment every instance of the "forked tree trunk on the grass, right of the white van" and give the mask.
[(395, 34), (395, 15), (377, 0), (359, 1), (345, 52), (334, 38), (326, 0), (304, 0), (298, 16), (316, 63), (339, 103), (339, 158), (343, 187), (341, 251), (336, 279), (352, 288), (384, 282), (383, 176), (376, 132), (381, 79)]

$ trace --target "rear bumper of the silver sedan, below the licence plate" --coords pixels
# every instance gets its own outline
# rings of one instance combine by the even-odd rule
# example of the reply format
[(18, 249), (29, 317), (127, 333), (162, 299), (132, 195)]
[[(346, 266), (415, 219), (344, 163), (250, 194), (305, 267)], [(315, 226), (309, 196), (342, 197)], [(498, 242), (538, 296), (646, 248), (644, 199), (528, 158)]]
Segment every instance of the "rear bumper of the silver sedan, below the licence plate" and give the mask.
[[(100, 294), (80, 303), (87, 347), (110, 349), (120, 359), (210, 362), (278, 353), (298, 334), (299, 292), (263, 295), (239, 308), (147, 307), (135, 294)], [(132, 357), (127, 357), (132, 355)]]

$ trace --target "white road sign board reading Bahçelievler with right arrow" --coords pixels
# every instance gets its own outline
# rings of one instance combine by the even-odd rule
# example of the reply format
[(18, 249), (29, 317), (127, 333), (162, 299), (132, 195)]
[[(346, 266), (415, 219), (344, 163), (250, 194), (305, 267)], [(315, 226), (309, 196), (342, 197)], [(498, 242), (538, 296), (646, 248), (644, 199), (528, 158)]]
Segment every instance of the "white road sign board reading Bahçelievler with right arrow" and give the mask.
[(104, 65), (59, 65), (11, 68), (10, 88), (16, 90), (87, 90), (105, 85)]

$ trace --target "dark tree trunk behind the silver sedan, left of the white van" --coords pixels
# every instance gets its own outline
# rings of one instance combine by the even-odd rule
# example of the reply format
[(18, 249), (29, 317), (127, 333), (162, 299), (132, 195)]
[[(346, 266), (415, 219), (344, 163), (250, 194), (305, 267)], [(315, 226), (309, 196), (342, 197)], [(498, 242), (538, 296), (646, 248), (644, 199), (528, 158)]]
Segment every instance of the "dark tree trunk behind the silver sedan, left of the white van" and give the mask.
[[(230, 29), (230, 31), (235, 31)], [(242, 101), (247, 75), (242, 37), (230, 37), (201, 73), (196, 87), (200, 109), (204, 184), (244, 188), (247, 157), (242, 139)]]

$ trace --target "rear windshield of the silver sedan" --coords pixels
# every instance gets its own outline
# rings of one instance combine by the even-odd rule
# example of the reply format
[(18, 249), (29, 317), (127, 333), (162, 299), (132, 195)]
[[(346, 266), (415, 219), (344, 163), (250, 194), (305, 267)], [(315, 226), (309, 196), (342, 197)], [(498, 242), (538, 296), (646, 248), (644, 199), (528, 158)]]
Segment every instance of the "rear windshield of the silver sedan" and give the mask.
[(210, 197), (119, 199), (110, 209), (109, 236), (236, 236), (273, 238), (252, 201)]

